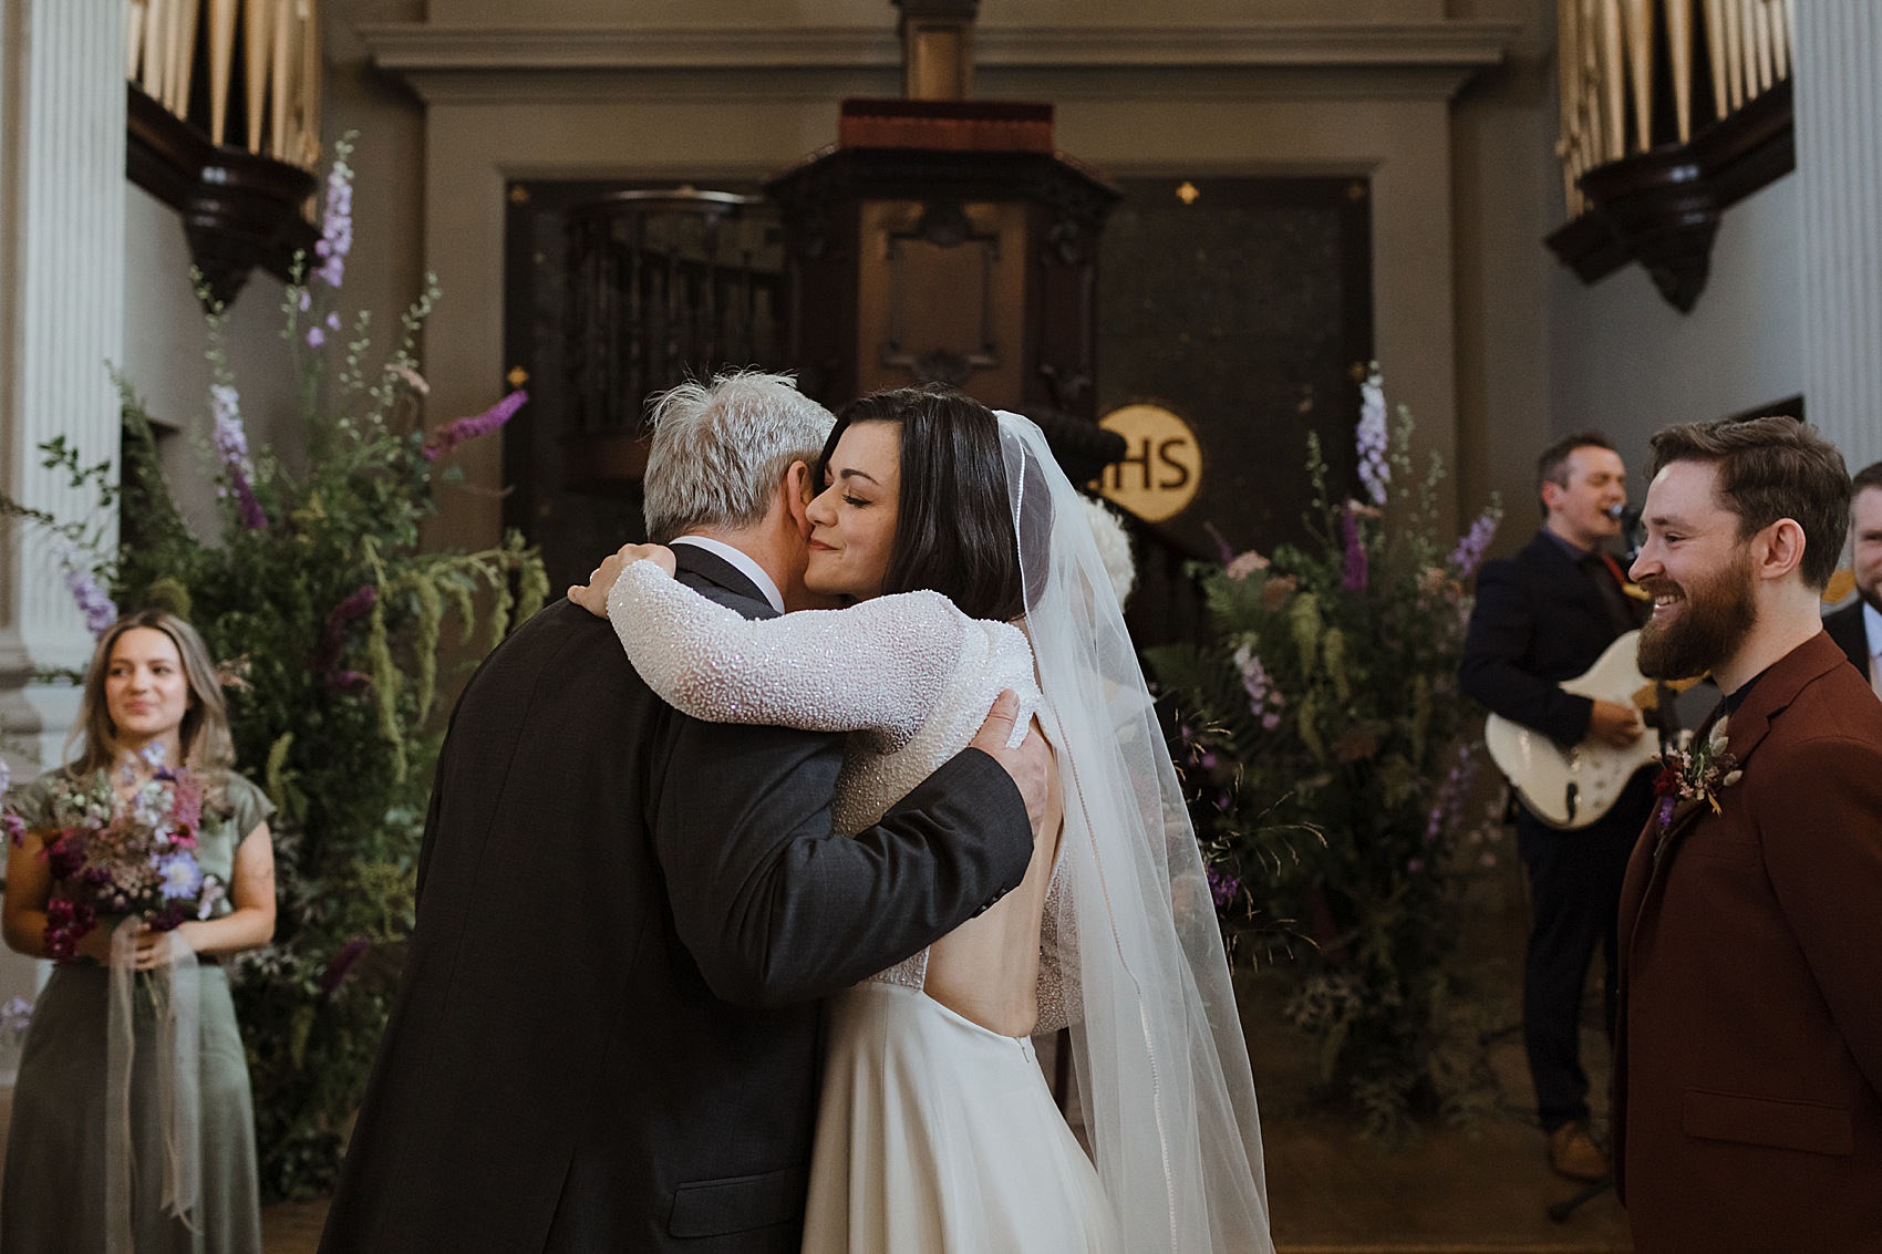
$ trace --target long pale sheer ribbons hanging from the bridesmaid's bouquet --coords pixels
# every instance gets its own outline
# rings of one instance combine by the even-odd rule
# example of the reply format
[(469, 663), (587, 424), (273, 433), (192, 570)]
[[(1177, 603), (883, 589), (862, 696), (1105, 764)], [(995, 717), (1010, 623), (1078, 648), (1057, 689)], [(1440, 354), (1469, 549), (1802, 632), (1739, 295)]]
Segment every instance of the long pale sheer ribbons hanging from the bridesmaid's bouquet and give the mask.
[[(137, 1060), (137, 934), (124, 919), (111, 932), (111, 990), (105, 1043), (105, 1254), (132, 1254), (132, 1071)], [(201, 1194), (201, 1005), (203, 985), (196, 951), (175, 932), (169, 953), (149, 972), (156, 1041), (156, 1117), (164, 1137), (164, 1211), (194, 1231), (192, 1213)]]

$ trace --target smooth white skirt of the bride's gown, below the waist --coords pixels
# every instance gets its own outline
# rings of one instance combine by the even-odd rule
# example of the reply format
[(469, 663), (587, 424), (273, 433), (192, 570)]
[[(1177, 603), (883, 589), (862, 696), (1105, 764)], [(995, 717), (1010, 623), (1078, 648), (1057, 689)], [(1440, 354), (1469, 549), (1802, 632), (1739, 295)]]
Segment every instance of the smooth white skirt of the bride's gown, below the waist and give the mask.
[(804, 1254), (1118, 1254), (1031, 1041), (903, 985), (830, 1002)]

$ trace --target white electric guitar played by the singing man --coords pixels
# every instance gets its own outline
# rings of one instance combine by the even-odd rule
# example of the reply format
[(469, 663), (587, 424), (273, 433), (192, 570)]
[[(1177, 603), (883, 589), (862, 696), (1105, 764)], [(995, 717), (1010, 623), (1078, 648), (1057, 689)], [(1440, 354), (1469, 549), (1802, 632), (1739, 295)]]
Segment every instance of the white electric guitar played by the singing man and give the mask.
[[(1564, 693), (1634, 706), (1652, 721), (1660, 699), (1641, 674), (1639, 635), (1617, 636), (1600, 661), (1581, 676), (1562, 683)], [(1660, 757), (1660, 738), (1647, 731), (1639, 740), (1615, 748), (1603, 740), (1583, 740), (1571, 749), (1498, 714), (1483, 725), (1491, 761), (1509, 778), (1523, 806), (1549, 827), (1575, 830), (1607, 813), (1634, 772)]]

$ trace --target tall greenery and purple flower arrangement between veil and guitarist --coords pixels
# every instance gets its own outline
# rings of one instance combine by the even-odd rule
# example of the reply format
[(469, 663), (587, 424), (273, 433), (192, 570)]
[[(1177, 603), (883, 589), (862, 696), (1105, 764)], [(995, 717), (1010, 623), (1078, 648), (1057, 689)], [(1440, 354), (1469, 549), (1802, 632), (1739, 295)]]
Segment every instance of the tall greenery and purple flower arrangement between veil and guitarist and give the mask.
[(1438, 540), (1432, 458), (1412, 418), (1361, 388), (1359, 493), (1329, 491), (1310, 437), (1314, 542), (1233, 554), (1199, 576), (1208, 648), (1148, 659), (1176, 712), (1178, 764), (1233, 951), (1280, 983), (1329, 1096), (1380, 1133), (1459, 1098), (1445, 1060), (1459, 876), (1489, 838), (1468, 813), (1479, 744), (1457, 687), (1487, 508)]

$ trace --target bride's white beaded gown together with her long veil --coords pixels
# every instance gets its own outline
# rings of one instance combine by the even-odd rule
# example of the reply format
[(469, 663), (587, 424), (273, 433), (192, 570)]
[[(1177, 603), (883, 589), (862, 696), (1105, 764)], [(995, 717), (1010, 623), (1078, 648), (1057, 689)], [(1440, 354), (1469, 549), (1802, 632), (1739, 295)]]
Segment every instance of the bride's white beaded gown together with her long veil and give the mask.
[[(747, 621), (651, 563), (608, 599), (634, 667), (710, 721), (851, 731), (836, 827), (873, 823), (979, 731), (1035, 712), (1063, 828), (1041, 1030), (1069, 1022), (1090, 1158), (1024, 1039), (922, 992), (926, 955), (845, 990), (807, 1254), (1272, 1254), (1261, 1128), (1195, 830), (1118, 595), (1039, 427), (999, 414), (1026, 635), (937, 593)], [(1028, 638), (1031, 648), (1028, 648)]]

